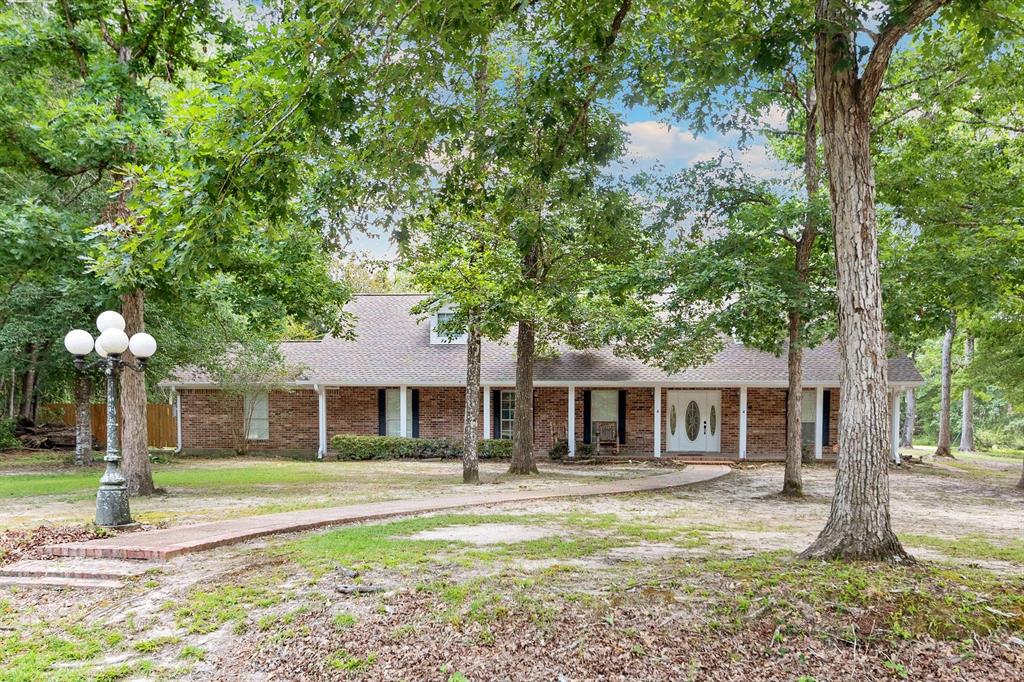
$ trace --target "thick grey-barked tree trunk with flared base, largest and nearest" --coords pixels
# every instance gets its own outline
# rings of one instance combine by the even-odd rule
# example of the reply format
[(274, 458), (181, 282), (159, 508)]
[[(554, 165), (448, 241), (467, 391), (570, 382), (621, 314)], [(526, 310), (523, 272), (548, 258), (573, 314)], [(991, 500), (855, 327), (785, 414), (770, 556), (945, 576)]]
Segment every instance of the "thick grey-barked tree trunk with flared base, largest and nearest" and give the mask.
[(836, 494), (828, 521), (804, 558), (912, 560), (889, 513), (889, 377), (870, 157), (855, 45), (835, 30), (843, 9), (818, 0), (815, 85), (836, 242), (840, 401)]

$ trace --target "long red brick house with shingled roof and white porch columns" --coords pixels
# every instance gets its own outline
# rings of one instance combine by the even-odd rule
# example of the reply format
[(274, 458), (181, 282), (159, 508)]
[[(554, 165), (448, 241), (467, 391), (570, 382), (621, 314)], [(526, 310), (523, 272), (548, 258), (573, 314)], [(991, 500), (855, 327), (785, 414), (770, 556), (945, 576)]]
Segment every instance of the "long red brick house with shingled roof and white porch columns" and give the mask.
[[(288, 391), (225, 395), (196, 373), (165, 382), (174, 391), (178, 449), (230, 450), (243, 423), (251, 452), (317, 453), (339, 434), (462, 435), (465, 340), (436, 333), (438, 316), (418, 319), (418, 295), (359, 295), (349, 304), (355, 338), (282, 344), (301, 368)], [(833, 458), (839, 429), (839, 352), (825, 343), (804, 353), (804, 442)], [(570, 454), (608, 429), (636, 456), (707, 455), (778, 460), (785, 453), (786, 359), (727, 342), (708, 365), (677, 374), (610, 349), (564, 349), (535, 370), (534, 445), (546, 453), (566, 439)], [(912, 360), (889, 360), (891, 403), (923, 383)], [(480, 435), (507, 438), (515, 412), (515, 348), (481, 350)], [(898, 433), (899, 411), (892, 411)]]

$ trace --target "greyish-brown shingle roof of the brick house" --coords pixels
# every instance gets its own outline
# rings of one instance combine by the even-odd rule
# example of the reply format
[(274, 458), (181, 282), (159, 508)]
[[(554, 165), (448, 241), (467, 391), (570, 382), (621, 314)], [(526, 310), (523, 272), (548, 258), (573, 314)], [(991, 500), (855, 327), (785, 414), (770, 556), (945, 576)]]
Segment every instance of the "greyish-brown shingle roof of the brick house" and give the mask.
[[(420, 295), (359, 295), (348, 305), (355, 317), (354, 340), (286, 342), (282, 352), (304, 368), (298, 383), (328, 386), (465, 385), (466, 346), (431, 344), (429, 319), (417, 319), (410, 310)], [(839, 351), (835, 342), (804, 352), (804, 383), (839, 385)], [(665, 385), (778, 385), (786, 384), (786, 358), (727, 341), (708, 365), (668, 374), (644, 363), (620, 357), (609, 348), (564, 349), (557, 357), (539, 359), (539, 384), (665, 384)], [(922, 382), (913, 361), (905, 356), (889, 360), (894, 384)], [(515, 383), (515, 348), (511, 343), (484, 341), (481, 382)], [(204, 384), (201, 373), (183, 370), (169, 385)]]

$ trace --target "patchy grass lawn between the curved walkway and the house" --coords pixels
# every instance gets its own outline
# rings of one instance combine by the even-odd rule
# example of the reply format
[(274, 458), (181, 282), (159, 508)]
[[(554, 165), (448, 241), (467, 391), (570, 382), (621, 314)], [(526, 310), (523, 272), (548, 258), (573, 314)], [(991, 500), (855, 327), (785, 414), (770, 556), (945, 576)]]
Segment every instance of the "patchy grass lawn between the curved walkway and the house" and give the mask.
[[(70, 454), (30, 453), (0, 458), (0, 529), (92, 518), (103, 464), (83, 471)], [(161, 494), (132, 500), (143, 523), (186, 523), (444, 494), (459, 488), (461, 464), (445, 462), (337, 462), (270, 458), (173, 458), (154, 463)], [(482, 480), (496, 489), (524, 484), (505, 475), (507, 463), (484, 462)], [(620, 467), (606, 472), (549, 467), (525, 484), (590, 482), (646, 475)]]

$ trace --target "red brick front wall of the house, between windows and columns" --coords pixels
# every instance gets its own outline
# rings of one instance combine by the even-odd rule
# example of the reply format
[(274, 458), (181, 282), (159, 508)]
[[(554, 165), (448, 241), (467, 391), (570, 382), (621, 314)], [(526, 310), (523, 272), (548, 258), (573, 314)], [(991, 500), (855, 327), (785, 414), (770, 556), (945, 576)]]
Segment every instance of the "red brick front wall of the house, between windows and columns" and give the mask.
[[(420, 395), (420, 436), (425, 438), (462, 436), (465, 390), (459, 387), (422, 387)], [(584, 392), (575, 389), (575, 436), (584, 440)], [(598, 389), (594, 389), (598, 390)], [(649, 455), (654, 445), (654, 396), (650, 388), (627, 388), (626, 443), (622, 452)], [(839, 437), (839, 389), (831, 390), (828, 441), (825, 456), (835, 456)], [(534, 449), (547, 454), (552, 438), (564, 438), (568, 416), (565, 387), (539, 387), (534, 394)], [(668, 452), (667, 404), (669, 389), (662, 390), (662, 451)], [(234, 447), (236, 430), (242, 422), (242, 398), (213, 389), (181, 389), (182, 445), (186, 451), (224, 451)], [(785, 389), (749, 388), (746, 451), (750, 459), (782, 459), (785, 455)], [(376, 435), (378, 432), (378, 389), (346, 387), (329, 389), (327, 394), (328, 437), (339, 433)], [(480, 400), (480, 434), (483, 420)], [(410, 406), (412, 409), (412, 406)], [(721, 389), (721, 455), (737, 458), (739, 453), (739, 389)], [(492, 429), (492, 432), (493, 429)], [(272, 392), (269, 395), (269, 438), (250, 441), (250, 452), (315, 452), (318, 444), (317, 399), (312, 390)]]

